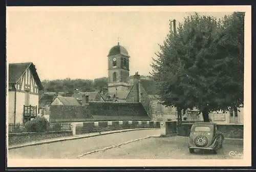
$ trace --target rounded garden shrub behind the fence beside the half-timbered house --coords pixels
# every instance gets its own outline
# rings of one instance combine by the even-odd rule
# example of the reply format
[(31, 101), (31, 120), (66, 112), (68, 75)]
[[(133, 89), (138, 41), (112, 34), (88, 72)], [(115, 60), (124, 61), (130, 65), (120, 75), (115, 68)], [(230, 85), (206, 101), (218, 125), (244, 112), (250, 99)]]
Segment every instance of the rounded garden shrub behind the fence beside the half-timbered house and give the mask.
[(49, 129), (49, 121), (45, 117), (37, 116), (25, 123), (26, 132), (46, 132)]

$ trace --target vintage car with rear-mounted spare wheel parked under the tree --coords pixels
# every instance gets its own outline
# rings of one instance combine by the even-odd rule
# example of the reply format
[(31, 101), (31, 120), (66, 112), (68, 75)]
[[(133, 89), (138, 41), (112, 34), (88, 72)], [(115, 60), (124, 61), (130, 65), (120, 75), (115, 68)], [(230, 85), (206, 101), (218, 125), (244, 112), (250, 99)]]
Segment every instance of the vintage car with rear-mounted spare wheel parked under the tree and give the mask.
[(212, 150), (215, 154), (222, 148), (224, 135), (213, 122), (197, 122), (192, 125), (188, 138), (188, 149), (194, 153), (195, 149)]

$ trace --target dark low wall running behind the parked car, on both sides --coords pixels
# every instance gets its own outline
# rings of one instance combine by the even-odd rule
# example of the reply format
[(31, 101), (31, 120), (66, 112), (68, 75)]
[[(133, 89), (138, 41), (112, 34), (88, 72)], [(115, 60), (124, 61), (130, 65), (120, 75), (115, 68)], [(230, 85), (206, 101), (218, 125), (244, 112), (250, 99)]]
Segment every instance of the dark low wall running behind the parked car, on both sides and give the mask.
[[(193, 124), (182, 124), (179, 133), (177, 133), (176, 121), (165, 121), (165, 135), (177, 133), (179, 136), (188, 137), (190, 129)], [(244, 125), (229, 125), (220, 124), (217, 125), (218, 130), (222, 132), (225, 138), (239, 138), (244, 137)]]

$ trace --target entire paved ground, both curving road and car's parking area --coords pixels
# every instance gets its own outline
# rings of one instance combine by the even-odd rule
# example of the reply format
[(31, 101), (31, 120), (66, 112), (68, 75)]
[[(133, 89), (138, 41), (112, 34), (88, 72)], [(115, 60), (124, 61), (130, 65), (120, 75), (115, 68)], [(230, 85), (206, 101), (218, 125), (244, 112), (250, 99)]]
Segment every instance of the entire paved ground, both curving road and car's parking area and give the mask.
[[(75, 159), (78, 156), (97, 149), (117, 145), (130, 140), (147, 136), (158, 135), (162, 131), (141, 130), (124, 133), (108, 134), (90, 138), (61, 141), (49, 144), (28, 146), (19, 149), (9, 150), (9, 158), (67, 158)], [(79, 157), (80, 159), (233, 159), (241, 157), (230, 157), (243, 153), (242, 140), (225, 140), (223, 149), (218, 154), (199, 151), (189, 154), (187, 149), (187, 137), (152, 137), (139, 141), (127, 143), (117, 148), (95, 152)]]

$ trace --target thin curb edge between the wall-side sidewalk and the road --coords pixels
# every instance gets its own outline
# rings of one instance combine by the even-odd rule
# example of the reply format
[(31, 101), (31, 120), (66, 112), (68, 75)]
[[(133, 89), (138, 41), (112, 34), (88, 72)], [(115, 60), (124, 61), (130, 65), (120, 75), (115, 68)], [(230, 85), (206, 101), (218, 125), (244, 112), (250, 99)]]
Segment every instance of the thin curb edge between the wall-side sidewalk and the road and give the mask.
[(88, 137), (102, 136), (102, 135), (107, 135), (107, 134), (123, 133), (123, 132), (129, 132), (129, 131), (137, 131), (137, 130), (153, 130), (153, 128), (130, 129), (130, 130), (124, 130), (124, 131), (113, 131), (113, 132), (109, 132), (109, 133), (95, 134), (95, 135), (91, 135), (91, 136), (90, 135), (89, 136), (80, 136), (80, 137), (72, 137), (72, 138), (63, 138), (63, 139), (58, 139), (58, 140), (49, 140), (49, 141), (38, 142), (38, 143), (28, 143), (28, 144), (24, 144), (24, 145), (14, 145), (14, 146), (10, 146), (10, 147), (8, 146), (8, 150), (23, 148), (23, 147), (26, 147), (26, 146), (48, 144), (48, 143), (54, 143), (54, 142), (59, 142), (59, 141), (75, 140), (75, 139), (81, 139), (81, 138), (88, 138)]

